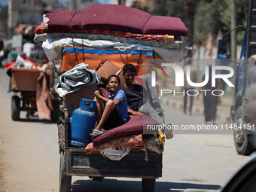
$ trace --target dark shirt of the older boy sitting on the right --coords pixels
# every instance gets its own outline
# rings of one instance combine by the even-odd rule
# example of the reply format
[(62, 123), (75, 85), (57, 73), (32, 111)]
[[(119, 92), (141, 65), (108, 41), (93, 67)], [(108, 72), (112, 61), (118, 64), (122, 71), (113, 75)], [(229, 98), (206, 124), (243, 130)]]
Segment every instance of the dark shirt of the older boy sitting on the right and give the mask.
[(125, 93), (128, 107), (133, 111), (139, 111), (139, 108), (147, 102), (146, 90), (140, 84), (133, 84), (133, 87), (133, 90), (124, 86), (120, 87), (120, 89)]

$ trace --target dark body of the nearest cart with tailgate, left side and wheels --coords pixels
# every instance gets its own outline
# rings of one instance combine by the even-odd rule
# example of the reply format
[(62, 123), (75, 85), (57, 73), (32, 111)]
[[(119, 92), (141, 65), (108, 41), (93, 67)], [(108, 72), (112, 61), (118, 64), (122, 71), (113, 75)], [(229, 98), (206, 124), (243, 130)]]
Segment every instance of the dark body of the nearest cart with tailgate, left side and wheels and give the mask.
[[(88, 90), (88, 89), (87, 89)], [(71, 190), (72, 175), (89, 176), (101, 181), (104, 177), (142, 178), (142, 191), (153, 192), (155, 179), (162, 176), (162, 154), (153, 151), (130, 151), (121, 160), (110, 160), (98, 152), (88, 153), (72, 146), (69, 110), (59, 106), (59, 191)], [(147, 155), (148, 160), (145, 160)]]

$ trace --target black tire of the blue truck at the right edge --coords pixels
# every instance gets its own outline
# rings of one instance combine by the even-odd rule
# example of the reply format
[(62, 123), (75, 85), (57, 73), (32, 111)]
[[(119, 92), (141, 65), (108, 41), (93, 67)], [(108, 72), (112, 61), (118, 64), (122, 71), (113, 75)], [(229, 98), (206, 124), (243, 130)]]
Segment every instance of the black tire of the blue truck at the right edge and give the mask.
[[(239, 108), (237, 108), (236, 110), (236, 114), (235, 114), (235, 118), (234, 118), (234, 123), (239, 124), (239, 122), (242, 121), (242, 124), (244, 123), (244, 120), (242, 119), (242, 106), (240, 106)], [(242, 133), (244, 136), (244, 141), (242, 142), (242, 144), (238, 143), (236, 141), (236, 130), (233, 130), (233, 139), (234, 139), (234, 143), (235, 143), (235, 147), (236, 147), (236, 151), (237, 154), (241, 154), (241, 155), (249, 155), (254, 151), (254, 148), (252, 148), (251, 146), (251, 135), (247, 134), (247, 133)]]

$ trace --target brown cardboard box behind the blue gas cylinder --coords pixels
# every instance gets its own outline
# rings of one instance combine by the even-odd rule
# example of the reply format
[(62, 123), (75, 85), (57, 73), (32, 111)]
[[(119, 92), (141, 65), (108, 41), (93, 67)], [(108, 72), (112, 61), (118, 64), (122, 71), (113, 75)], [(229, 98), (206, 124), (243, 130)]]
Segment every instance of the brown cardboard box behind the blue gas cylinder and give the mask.
[(64, 96), (66, 108), (68, 109), (68, 115), (72, 116), (73, 111), (79, 108), (81, 99), (93, 100), (95, 97), (94, 91), (98, 90), (98, 87), (84, 87), (81, 90), (68, 93)]

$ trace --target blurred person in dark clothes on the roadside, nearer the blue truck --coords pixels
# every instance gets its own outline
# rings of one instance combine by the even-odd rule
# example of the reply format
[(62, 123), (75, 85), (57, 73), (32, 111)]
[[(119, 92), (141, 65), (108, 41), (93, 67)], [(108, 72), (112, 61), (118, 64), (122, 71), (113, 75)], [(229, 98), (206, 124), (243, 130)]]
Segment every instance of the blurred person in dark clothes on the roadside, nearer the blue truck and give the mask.
[[(205, 80), (205, 76), (206, 75), (203, 75), (202, 81)], [(209, 66), (209, 81), (203, 87), (203, 90), (209, 90), (209, 91), (202, 92), (205, 123), (212, 122), (212, 124), (215, 124), (215, 119), (217, 114), (217, 105), (218, 105), (218, 96), (214, 96), (212, 94), (212, 90), (221, 90), (220, 79), (216, 79), (215, 85), (216, 87), (212, 87), (212, 66)]]

